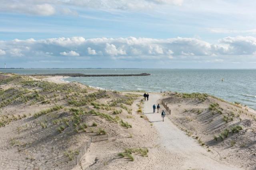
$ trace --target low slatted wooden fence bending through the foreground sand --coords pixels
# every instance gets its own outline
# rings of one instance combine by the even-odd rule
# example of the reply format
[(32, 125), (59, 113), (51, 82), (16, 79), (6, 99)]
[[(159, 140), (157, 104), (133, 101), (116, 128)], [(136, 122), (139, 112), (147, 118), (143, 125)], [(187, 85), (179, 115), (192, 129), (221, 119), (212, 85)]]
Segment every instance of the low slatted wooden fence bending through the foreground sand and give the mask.
[(108, 134), (90, 137), (89, 141), (87, 141), (85, 145), (79, 149), (79, 154), (74, 156), (73, 160), (70, 160), (65, 164), (55, 167), (54, 170), (72, 170), (78, 164), (82, 156), (87, 152), (92, 142), (99, 142), (99, 141), (106, 141), (106, 140), (108, 140)]

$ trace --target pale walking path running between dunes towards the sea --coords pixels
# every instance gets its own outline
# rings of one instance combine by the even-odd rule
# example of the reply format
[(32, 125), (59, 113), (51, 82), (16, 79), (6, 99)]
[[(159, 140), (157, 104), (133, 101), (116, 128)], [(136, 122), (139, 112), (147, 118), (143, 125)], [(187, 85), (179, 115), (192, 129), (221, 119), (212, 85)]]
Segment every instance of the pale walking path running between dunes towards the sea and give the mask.
[(149, 101), (146, 101), (144, 104), (144, 114), (157, 129), (160, 136), (160, 145), (170, 152), (182, 156), (182, 166), (180, 167), (181, 162), (179, 160), (173, 158), (173, 162), (176, 163), (170, 169), (239, 169), (227, 165), (227, 163), (218, 162), (218, 160), (213, 158), (212, 153), (207, 152), (205, 148), (201, 147), (191, 137), (186, 136), (167, 117), (165, 117), (163, 122), (160, 113), (153, 113), (153, 104), (157, 104), (157, 101), (161, 98), (160, 94), (150, 94)]

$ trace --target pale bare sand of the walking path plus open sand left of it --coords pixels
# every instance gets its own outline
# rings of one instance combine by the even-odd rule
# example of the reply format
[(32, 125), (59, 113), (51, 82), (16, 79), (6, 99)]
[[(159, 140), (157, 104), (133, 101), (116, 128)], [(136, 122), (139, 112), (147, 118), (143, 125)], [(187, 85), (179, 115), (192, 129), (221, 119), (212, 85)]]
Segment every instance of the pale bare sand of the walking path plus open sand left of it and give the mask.
[[(162, 97), (161, 94), (150, 93), (150, 100), (144, 102), (144, 115), (153, 123), (152, 126), (149, 126), (136, 113), (136, 104), (139, 103), (139, 100), (134, 102), (132, 106), (135, 111), (132, 114), (136, 121), (131, 122), (133, 127), (130, 129), (134, 137), (122, 140), (113, 137), (114, 139), (111, 138), (110, 141), (94, 143), (91, 145), (89, 152), (82, 158), (80, 166), (77, 166), (75, 170), (239, 169), (220, 160), (216, 152), (207, 152), (206, 148), (200, 147), (196, 141), (186, 136), (167, 117), (162, 122), (160, 113), (152, 113), (153, 104), (160, 103)], [(161, 105), (162, 108), (163, 106)], [(115, 141), (118, 144), (115, 143), (114, 147), (111, 141)], [(113, 156), (118, 151), (122, 152), (122, 146), (124, 147), (126, 145), (130, 147), (148, 147), (148, 157), (135, 156), (134, 162), (130, 162), (123, 158), (117, 159), (118, 157)]]

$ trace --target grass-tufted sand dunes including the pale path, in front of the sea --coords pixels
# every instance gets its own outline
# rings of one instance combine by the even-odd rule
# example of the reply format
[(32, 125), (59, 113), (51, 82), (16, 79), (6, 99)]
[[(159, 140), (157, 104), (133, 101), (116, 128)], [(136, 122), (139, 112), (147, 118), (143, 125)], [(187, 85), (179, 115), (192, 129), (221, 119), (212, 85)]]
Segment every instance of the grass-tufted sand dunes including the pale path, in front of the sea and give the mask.
[[(12, 76), (0, 81), (0, 168), (255, 169), (255, 111), (206, 94), (116, 92)], [(171, 109), (166, 111), (162, 102)], [(152, 113), (160, 103), (166, 112)]]

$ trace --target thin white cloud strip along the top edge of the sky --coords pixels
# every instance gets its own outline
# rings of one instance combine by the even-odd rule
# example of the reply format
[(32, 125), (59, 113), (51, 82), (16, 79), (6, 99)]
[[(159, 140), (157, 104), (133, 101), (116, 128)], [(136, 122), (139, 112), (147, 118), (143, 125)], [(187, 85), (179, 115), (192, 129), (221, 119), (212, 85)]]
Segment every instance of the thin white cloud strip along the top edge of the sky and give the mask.
[(183, 0), (1, 0), (0, 12), (51, 16), (56, 14), (57, 9), (62, 14), (76, 16), (78, 13), (67, 6), (129, 11), (148, 10), (159, 5), (180, 6), (182, 3)]

